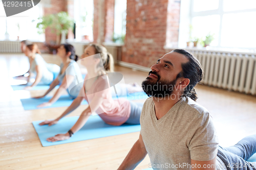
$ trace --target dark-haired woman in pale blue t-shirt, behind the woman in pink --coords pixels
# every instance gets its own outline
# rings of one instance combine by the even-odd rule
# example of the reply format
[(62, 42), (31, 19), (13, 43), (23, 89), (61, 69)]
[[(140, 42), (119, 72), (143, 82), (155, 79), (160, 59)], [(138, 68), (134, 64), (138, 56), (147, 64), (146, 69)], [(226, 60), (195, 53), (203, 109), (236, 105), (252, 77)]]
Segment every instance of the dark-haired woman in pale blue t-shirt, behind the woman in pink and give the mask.
[(44, 98), (50, 91), (52, 91), (52, 89), (54, 89), (55, 86), (57, 86), (58, 84), (60, 84), (60, 86), (53, 95), (52, 99), (49, 100), (49, 102), (42, 103), (37, 107), (51, 106), (59, 99), (60, 95), (66, 90), (68, 91), (71, 98), (75, 99), (82, 88), (82, 84), (80, 84), (72, 90), (72, 93), (70, 93), (70, 91), (68, 90), (69, 87), (74, 86), (74, 84), (77, 84), (77, 81), (83, 82), (79, 65), (76, 63), (78, 56), (75, 54), (74, 46), (71, 44), (61, 44), (57, 50), (57, 55), (60, 57), (62, 61), (60, 64), (59, 74), (57, 78), (54, 79), (54, 81), (51, 83), (50, 88), (46, 91), (46, 93), (42, 96), (36, 97), (36, 99)]

